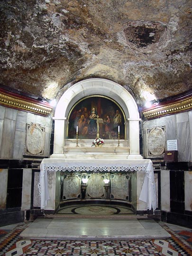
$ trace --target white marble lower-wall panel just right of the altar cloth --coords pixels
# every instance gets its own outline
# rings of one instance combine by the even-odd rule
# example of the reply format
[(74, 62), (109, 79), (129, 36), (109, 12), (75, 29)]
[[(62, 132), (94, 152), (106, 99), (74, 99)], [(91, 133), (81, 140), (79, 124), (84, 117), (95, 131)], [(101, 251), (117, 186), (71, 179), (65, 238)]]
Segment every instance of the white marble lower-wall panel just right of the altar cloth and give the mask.
[(161, 170), (161, 210), (170, 211), (170, 175)]

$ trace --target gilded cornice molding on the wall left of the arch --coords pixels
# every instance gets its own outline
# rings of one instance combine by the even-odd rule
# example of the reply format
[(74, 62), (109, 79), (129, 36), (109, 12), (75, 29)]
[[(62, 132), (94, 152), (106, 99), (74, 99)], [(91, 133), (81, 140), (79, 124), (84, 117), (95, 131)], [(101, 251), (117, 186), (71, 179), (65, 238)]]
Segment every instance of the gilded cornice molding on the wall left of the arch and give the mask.
[(24, 97), (0, 88), (0, 105), (37, 115), (48, 116), (52, 107), (45, 102), (37, 101), (28, 97)]

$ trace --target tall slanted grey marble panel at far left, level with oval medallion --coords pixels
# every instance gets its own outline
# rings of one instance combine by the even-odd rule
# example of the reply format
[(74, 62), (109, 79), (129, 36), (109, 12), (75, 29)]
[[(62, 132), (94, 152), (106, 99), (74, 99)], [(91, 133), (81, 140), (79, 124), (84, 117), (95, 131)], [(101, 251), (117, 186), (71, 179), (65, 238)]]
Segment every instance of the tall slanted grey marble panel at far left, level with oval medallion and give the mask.
[(15, 138), (15, 120), (4, 119), (3, 134), (0, 148), (0, 158), (13, 158), (13, 145)]

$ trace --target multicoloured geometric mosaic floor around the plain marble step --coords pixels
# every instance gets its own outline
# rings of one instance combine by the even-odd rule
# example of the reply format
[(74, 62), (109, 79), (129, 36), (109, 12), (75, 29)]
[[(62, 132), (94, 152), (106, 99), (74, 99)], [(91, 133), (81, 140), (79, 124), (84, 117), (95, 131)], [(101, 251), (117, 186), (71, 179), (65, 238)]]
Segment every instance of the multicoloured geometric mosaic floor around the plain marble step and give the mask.
[(19, 234), (27, 228), (20, 223), (10, 230), (0, 228), (0, 255), (2, 256), (192, 256), (192, 230), (179, 227), (174, 230), (160, 223), (171, 234), (166, 240), (24, 240)]

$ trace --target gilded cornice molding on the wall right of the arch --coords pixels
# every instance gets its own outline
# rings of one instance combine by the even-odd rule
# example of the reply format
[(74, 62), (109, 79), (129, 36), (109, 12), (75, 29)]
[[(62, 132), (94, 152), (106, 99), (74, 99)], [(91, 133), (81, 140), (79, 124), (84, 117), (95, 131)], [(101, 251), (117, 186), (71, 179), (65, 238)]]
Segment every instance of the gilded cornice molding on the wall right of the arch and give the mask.
[(192, 95), (161, 103), (153, 108), (143, 110), (142, 113), (146, 119), (154, 119), (188, 110), (192, 110)]

